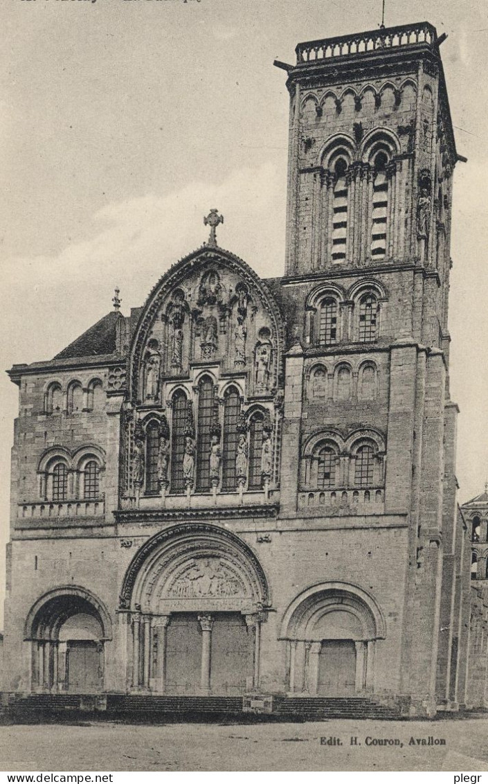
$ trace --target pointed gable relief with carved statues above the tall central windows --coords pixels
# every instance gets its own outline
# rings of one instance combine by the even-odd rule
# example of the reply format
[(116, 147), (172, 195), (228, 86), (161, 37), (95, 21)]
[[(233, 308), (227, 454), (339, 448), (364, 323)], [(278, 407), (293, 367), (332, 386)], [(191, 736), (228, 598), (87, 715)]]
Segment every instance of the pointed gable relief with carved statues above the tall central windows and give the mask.
[[(227, 372), (251, 372), (257, 394), (276, 386), (276, 330), (251, 285), (218, 263), (194, 272), (168, 293), (142, 351), (139, 395), (161, 403), (161, 379), (186, 376), (190, 363), (219, 361)], [(139, 390), (140, 392), (140, 390)]]

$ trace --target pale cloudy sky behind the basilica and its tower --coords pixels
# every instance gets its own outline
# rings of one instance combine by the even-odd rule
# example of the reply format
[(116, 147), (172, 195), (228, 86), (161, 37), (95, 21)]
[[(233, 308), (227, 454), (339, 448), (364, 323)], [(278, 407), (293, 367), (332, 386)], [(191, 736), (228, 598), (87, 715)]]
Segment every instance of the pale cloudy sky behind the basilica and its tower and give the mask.
[[(115, 285), (125, 314), (143, 304), (204, 241), (211, 207), (225, 216), (223, 247), (262, 276), (283, 273), (288, 96), (273, 59), (378, 27), (381, 0), (8, 0), (0, 13), (0, 368), (52, 358), (111, 309)], [(449, 36), (468, 158), (450, 290), (463, 502), (488, 478), (488, 4), (386, 0), (387, 25), (425, 19)], [(4, 541), (16, 393), (1, 376)]]

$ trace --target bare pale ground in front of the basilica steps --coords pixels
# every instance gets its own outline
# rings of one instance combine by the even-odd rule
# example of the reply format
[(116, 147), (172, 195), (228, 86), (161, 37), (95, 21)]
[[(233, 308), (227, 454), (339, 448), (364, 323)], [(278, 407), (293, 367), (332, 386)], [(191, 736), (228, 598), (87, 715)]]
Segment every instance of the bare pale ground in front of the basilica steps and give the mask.
[[(307, 724), (0, 727), (2, 771), (488, 771), (488, 717)], [(410, 738), (446, 746), (409, 745)], [(351, 746), (351, 737), (357, 746)], [(367, 737), (402, 746), (367, 746)], [(321, 745), (341, 739), (342, 746)]]

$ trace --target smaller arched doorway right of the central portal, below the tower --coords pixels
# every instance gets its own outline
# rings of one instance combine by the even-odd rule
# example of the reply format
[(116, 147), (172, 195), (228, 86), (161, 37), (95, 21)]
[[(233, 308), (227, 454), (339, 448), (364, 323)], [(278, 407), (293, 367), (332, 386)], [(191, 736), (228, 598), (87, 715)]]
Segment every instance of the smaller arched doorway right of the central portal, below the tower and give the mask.
[(310, 695), (350, 696), (374, 691), (374, 650), (385, 637), (378, 604), (347, 583), (305, 590), (285, 612), (288, 688)]

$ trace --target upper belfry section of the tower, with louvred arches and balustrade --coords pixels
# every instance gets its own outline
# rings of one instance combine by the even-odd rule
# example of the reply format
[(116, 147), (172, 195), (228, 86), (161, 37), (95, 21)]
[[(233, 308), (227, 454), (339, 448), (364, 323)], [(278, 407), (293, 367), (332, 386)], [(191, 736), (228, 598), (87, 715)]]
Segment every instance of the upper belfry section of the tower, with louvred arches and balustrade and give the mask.
[[(428, 23), (298, 44), (288, 71), (289, 277), (421, 263), (446, 323), (454, 136)], [(363, 272), (367, 270), (363, 269)]]

